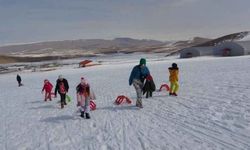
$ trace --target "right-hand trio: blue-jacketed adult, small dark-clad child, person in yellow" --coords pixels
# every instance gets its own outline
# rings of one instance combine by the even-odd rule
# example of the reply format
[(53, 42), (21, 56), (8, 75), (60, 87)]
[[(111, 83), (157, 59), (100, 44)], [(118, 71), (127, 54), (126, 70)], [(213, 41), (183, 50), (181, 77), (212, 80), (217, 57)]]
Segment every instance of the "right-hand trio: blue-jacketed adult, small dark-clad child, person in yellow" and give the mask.
[[(170, 81), (169, 95), (177, 96), (177, 91), (179, 89), (179, 68), (176, 63), (173, 63), (172, 66), (168, 68), (168, 70)], [(146, 82), (144, 83), (145, 79)], [(134, 66), (129, 77), (129, 85), (132, 84), (137, 95), (136, 106), (143, 108), (142, 95), (146, 93), (146, 98), (149, 96), (152, 97), (152, 92), (155, 91), (153, 77), (150, 75), (149, 69), (146, 66), (145, 58), (141, 58), (139, 65)]]

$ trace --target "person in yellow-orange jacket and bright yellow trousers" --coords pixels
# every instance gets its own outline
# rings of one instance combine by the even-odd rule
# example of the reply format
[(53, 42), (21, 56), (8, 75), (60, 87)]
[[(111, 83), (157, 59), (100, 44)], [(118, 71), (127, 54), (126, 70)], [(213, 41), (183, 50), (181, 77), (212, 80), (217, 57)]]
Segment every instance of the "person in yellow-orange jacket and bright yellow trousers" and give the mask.
[(169, 71), (169, 82), (170, 82), (170, 91), (169, 95), (177, 96), (176, 92), (179, 89), (179, 68), (176, 63), (172, 64), (172, 67), (168, 68)]

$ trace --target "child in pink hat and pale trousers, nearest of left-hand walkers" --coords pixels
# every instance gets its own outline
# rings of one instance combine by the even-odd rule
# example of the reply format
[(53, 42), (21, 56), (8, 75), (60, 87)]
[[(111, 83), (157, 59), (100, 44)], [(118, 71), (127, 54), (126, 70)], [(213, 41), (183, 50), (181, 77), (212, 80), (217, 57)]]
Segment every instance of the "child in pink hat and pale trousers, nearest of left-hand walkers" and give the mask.
[(84, 118), (84, 114), (86, 113), (86, 119), (90, 119), (89, 111), (90, 111), (90, 100), (95, 99), (95, 95), (90, 91), (90, 86), (86, 79), (81, 78), (81, 83), (79, 83), (76, 87), (76, 95), (77, 95), (77, 106), (80, 106), (81, 117)]

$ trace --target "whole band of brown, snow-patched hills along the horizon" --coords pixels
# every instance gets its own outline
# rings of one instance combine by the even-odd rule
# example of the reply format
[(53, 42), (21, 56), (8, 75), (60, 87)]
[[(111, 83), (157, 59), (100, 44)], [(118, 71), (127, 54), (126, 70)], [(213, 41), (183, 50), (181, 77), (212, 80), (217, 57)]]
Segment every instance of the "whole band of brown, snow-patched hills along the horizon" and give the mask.
[(248, 31), (228, 34), (216, 39), (194, 37), (192, 40), (176, 42), (116, 38), (113, 40), (80, 39), (9, 45), (0, 47), (0, 63), (67, 59), (118, 52), (168, 53), (167, 56), (169, 56), (186, 47), (213, 46), (224, 41), (240, 40), (247, 35), (249, 35)]

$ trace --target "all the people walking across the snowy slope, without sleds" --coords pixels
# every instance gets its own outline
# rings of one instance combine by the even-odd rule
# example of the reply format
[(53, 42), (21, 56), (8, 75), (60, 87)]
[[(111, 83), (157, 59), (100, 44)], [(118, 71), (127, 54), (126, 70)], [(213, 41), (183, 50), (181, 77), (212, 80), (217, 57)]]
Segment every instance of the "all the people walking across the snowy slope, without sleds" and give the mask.
[[(170, 91), (169, 95), (177, 96), (177, 91), (179, 89), (178, 83), (178, 74), (179, 69), (176, 63), (173, 63), (169, 70), (169, 81), (170, 81)], [(146, 81), (145, 81), (146, 80)], [(21, 77), (17, 74), (18, 86), (22, 86)], [(145, 83), (144, 83), (145, 81)], [(132, 85), (135, 88), (137, 99), (136, 106), (139, 108), (143, 108), (142, 105), (142, 95), (146, 93), (146, 98), (152, 97), (152, 93), (155, 91), (155, 84), (153, 81), (153, 77), (150, 75), (150, 71), (146, 66), (146, 59), (141, 58), (138, 65), (134, 66), (132, 72), (129, 77), (129, 85)], [(44, 85), (42, 88), (42, 93), (45, 91), (44, 101), (51, 101), (53, 85), (50, 83), (48, 79), (44, 80)], [(62, 75), (58, 76), (56, 81), (54, 95), (57, 97), (57, 93), (60, 95), (60, 104), (63, 109), (66, 103), (66, 94), (69, 90), (68, 81), (63, 78)], [(80, 107), (81, 117), (86, 119), (90, 119), (90, 101), (95, 99), (95, 94), (92, 92), (89, 83), (84, 77), (81, 77), (80, 83), (76, 87), (76, 96), (77, 96), (77, 106)]]

